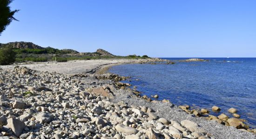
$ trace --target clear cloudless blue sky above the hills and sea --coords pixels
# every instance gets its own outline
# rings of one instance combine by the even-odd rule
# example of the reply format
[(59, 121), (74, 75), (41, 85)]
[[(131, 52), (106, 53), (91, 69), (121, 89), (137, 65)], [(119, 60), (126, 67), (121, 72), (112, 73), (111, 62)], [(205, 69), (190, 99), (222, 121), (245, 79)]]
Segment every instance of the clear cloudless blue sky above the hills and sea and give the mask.
[(0, 43), (151, 57), (256, 57), (256, 0), (14, 0)]

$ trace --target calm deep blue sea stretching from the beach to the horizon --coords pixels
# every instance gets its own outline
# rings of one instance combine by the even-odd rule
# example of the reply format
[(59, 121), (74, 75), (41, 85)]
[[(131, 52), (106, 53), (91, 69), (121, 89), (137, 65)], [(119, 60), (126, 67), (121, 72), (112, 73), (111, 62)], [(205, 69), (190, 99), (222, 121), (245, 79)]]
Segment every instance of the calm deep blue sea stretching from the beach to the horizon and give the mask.
[[(112, 67), (110, 72), (131, 76), (130, 81), (124, 82), (137, 86), (142, 95), (158, 94), (158, 100), (169, 99), (176, 105), (187, 104), (209, 110), (216, 105), (221, 107), (221, 113), (229, 117), (232, 114), (227, 110), (235, 107), (238, 109), (237, 114), (247, 120), (251, 127), (256, 128), (256, 58), (204, 59), (210, 61), (125, 64)], [(218, 115), (214, 112), (210, 114)]]

